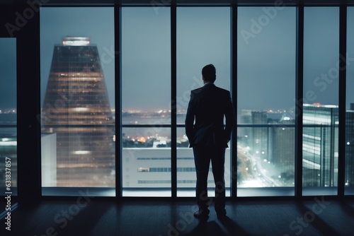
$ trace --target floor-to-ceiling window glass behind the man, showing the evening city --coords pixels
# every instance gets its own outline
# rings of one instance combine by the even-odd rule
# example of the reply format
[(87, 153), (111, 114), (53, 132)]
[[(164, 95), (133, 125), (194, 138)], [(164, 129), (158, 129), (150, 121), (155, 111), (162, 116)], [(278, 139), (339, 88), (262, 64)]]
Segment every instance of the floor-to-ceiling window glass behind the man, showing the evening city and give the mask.
[[(348, 8), (346, 194), (353, 192), (353, 12)], [(303, 62), (303, 195), (336, 195), (339, 8), (304, 8), (303, 61), (297, 61), (296, 7), (238, 6), (234, 22), (231, 15), (229, 6), (205, 5), (177, 6), (176, 18), (167, 4), (122, 6), (118, 19), (113, 7), (41, 8), (43, 194), (76, 195), (78, 188), (87, 188), (93, 195), (114, 196), (120, 175), (122, 196), (173, 196), (173, 184), (177, 196), (194, 196), (185, 110), (190, 90), (202, 85), (202, 66), (214, 64), (216, 85), (237, 96), (237, 138), (232, 140), (237, 172), (230, 170), (230, 143), (227, 190), (236, 177), (236, 196), (294, 196), (296, 64)], [(114, 48), (114, 24), (120, 25), (119, 49)], [(237, 25), (236, 49), (232, 24)], [(234, 52), (237, 61), (231, 60)], [(114, 73), (115, 57), (120, 57), (119, 75)], [(237, 76), (232, 78), (234, 66)], [(175, 67), (176, 83), (171, 76)], [(235, 88), (232, 79), (237, 79)], [(120, 98), (115, 98), (117, 87)], [(176, 101), (171, 88), (176, 89)], [(122, 108), (117, 117), (115, 102)], [(176, 107), (171, 107), (173, 102)], [(120, 136), (117, 151), (115, 135)], [(171, 141), (177, 142), (176, 149)], [(172, 153), (176, 170), (171, 169)], [(116, 155), (121, 170), (115, 169)], [(173, 171), (176, 183), (171, 182)], [(211, 172), (209, 182), (213, 187)]]

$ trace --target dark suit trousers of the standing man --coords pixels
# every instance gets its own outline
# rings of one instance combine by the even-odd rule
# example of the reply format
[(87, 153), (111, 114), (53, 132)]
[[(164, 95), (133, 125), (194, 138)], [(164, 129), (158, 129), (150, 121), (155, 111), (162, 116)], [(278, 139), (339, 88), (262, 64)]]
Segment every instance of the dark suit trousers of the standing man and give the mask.
[(212, 200), (207, 196), (207, 175), (212, 162), (212, 174), (215, 182), (215, 211), (221, 212), (225, 208), (225, 179), (224, 163), (225, 149), (220, 146), (193, 146), (195, 170), (197, 172), (197, 186), (195, 196), (200, 209), (207, 208)]

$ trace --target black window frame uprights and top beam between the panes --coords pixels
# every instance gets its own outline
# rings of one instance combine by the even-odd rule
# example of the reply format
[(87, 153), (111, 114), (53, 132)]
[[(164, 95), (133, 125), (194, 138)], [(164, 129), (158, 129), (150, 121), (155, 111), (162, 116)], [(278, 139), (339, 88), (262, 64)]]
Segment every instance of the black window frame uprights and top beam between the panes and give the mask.
[[(354, 1), (346, 1), (345, 4), (341, 1), (326, 1), (325, 3), (318, 4), (316, 1), (283, 1), (285, 6), (297, 7), (297, 64), (296, 64), (296, 100), (297, 100), (297, 121), (295, 122), (295, 199), (303, 199), (302, 196), (302, 98), (303, 98), (303, 45), (304, 45), (304, 7), (310, 6), (338, 6), (340, 8), (340, 47), (339, 54), (346, 56), (346, 20), (347, 20), (347, 7), (354, 6)], [(229, 6), (231, 11), (231, 18), (237, 18), (237, 8), (241, 6), (271, 6), (274, 1), (203, 1), (200, 3), (187, 4), (184, 1), (170, 1), (164, 4), (161, 1), (161, 6), (171, 7), (171, 98), (176, 98), (176, 7), (182, 6)], [(115, 47), (120, 48), (120, 8), (124, 6), (149, 6), (151, 1), (120, 1), (116, 4), (113, 0), (105, 1), (50, 1), (48, 4), (42, 4), (42, 7), (55, 7), (55, 6), (107, 6), (115, 9)], [(28, 5), (26, 1), (5, 1), (1, 4), (0, 20), (2, 23), (7, 23), (9, 20), (15, 20), (16, 12), (23, 12)], [(37, 116), (40, 114), (40, 98), (38, 91), (40, 88), (40, 36), (39, 36), (39, 18), (40, 14), (35, 13), (33, 18), (28, 20), (25, 27), (21, 28), (14, 33), (13, 37), (17, 40), (17, 54), (18, 54), (18, 199), (23, 203), (33, 203), (38, 199), (42, 199), (41, 184), (40, 184), (40, 124)], [(12, 22), (11, 21), (11, 22)], [(117, 23), (118, 22), (118, 23)], [(232, 20), (232, 64), (236, 64), (237, 44), (236, 44), (236, 20)], [(29, 36), (30, 35), (30, 36)], [(8, 37), (8, 31), (2, 29), (0, 31), (1, 37)], [(174, 41), (173, 41), (174, 40)], [(30, 52), (28, 51), (30, 50)], [(25, 53), (26, 52), (26, 53)], [(344, 183), (345, 183), (345, 156), (346, 156), (346, 143), (345, 143), (345, 129), (346, 129), (346, 64), (343, 63), (343, 70), (339, 75), (339, 162), (338, 162), (338, 194), (337, 198), (345, 197)], [(120, 81), (120, 59), (115, 59), (115, 75), (116, 81)], [(237, 84), (237, 68), (232, 66), (232, 88), (236, 88)], [(31, 80), (28, 79), (31, 75)], [(120, 83), (115, 83), (115, 100), (120, 101)], [(32, 91), (31, 97), (28, 98), (26, 92)], [(232, 89), (232, 98), (236, 104), (236, 90)], [(116, 117), (120, 117), (120, 102), (115, 102)], [(175, 111), (176, 112), (176, 111)], [(174, 116), (174, 113), (173, 113)], [(173, 117), (172, 116), (172, 117)], [(30, 117), (30, 118), (25, 118)], [(24, 119), (25, 118), (25, 119)], [(116, 120), (120, 122), (120, 119)], [(172, 136), (176, 136), (176, 120), (173, 118), (171, 121)], [(117, 131), (121, 129), (120, 124), (116, 124)], [(232, 135), (236, 140), (236, 129)], [(33, 138), (34, 137), (34, 138)], [(116, 136), (116, 168), (120, 170), (120, 136)], [(173, 142), (172, 142), (173, 143)], [(172, 197), (176, 197), (176, 146), (171, 147), (172, 153)], [(236, 144), (232, 143), (232, 166), (236, 165)], [(28, 153), (30, 157), (28, 158)], [(30, 180), (30, 181), (28, 181)], [(116, 198), (122, 197), (121, 177), (116, 177)], [(29, 184), (28, 184), (29, 183)], [(236, 199), (236, 181), (232, 182), (232, 196), (231, 199)], [(178, 199), (181, 199), (178, 197)]]

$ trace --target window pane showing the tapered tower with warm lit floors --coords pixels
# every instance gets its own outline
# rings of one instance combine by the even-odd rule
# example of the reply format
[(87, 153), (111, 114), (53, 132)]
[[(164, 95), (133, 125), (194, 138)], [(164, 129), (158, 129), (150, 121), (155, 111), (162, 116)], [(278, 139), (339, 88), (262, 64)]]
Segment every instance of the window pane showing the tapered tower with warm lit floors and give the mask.
[(40, 13), (42, 193), (114, 195), (113, 8)]

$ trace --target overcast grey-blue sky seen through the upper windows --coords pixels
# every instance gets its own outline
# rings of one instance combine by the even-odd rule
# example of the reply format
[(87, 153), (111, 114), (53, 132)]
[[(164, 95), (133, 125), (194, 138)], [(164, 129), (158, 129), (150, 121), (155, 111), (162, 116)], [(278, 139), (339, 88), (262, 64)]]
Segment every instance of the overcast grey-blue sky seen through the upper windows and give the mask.
[[(295, 105), (295, 8), (239, 8), (238, 107), (284, 109)], [(269, 8), (268, 8), (269, 10)], [(305, 102), (338, 105), (338, 8), (305, 8)], [(122, 107), (166, 109), (171, 97), (169, 8), (122, 9)], [(229, 8), (178, 8), (178, 108), (200, 85), (205, 64), (215, 64), (216, 85), (230, 89)], [(348, 9), (347, 107), (354, 102), (354, 10)], [(114, 107), (113, 8), (41, 8), (41, 98), (54, 46), (62, 37), (89, 36), (98, 46), (110, 105)], [(0, 107), (16, 106), (16, 40), (0, 40)], [(118, 56), (118, 54), (115, 54)], [(353, 76), (351, 76), (353, 75)], [(11, 79), (12, 78), (12, 79)]]

